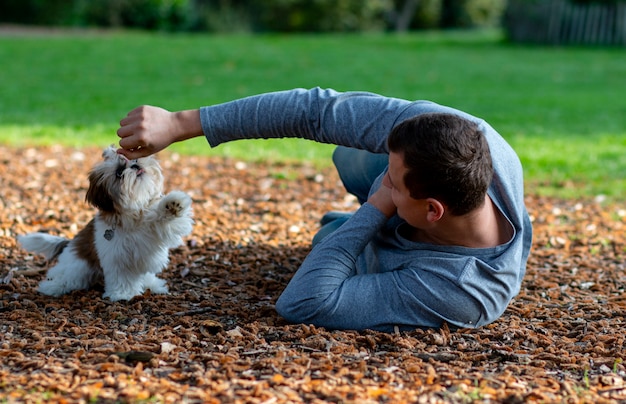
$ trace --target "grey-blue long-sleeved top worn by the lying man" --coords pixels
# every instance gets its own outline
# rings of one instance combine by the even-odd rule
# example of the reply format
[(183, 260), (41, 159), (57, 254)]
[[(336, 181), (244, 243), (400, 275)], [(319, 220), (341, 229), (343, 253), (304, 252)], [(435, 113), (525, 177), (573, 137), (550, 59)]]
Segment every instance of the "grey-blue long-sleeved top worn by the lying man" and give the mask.
[(276, 304), (284, 318), (382, 331), (437, 328), (444, 322), (473, 328), (496, 320), (519, 293), (532, 241), (520, 161), (486, 122), (430, 101), (314, 88), (200, 109), (212, 147), (238, 139), (298, 137), (374, 153), (388, 153), (386, 140), (394, 126), (430, 112), (463, 116), (483, 131), (494, 167), (488, 194), (511, 223), (513, 237), (493, 248), (413, 242), (401, 236), (401, 218), (387, 220), (364, 203), (302, 263)]

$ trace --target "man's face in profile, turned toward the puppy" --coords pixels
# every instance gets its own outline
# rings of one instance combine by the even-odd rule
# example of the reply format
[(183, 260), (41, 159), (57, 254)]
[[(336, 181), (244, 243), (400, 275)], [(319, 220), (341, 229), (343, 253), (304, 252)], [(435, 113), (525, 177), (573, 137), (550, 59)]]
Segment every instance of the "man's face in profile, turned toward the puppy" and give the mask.
[(415, 228), (423, 228), (426, 224), (428, 202), (425, 199), (414, 199), (404, 185), (407, 168), (402, 153), (389, 153), (389, 171), (383, 182), (391, 187), (391, 199), (398, 209), (398, 216)]

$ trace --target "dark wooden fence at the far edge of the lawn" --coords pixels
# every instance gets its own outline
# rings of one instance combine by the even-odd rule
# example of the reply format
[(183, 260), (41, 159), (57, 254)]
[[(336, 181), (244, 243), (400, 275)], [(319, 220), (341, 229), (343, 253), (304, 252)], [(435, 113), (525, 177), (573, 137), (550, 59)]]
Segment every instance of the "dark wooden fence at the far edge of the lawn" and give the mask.
[(626, 46), (626, 2), (509, 0), (504, 27), (513, 42)]

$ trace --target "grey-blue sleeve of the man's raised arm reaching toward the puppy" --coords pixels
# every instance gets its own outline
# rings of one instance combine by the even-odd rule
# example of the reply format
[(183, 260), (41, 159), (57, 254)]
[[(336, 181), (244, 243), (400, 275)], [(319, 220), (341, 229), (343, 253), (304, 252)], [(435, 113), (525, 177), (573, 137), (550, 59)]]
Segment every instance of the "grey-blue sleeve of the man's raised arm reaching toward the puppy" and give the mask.
[(387, 136), (409, 105), (367, 92), (294, 89), (203, 107), (200, 118), (211, 147), (293, 137), (385, 153)]

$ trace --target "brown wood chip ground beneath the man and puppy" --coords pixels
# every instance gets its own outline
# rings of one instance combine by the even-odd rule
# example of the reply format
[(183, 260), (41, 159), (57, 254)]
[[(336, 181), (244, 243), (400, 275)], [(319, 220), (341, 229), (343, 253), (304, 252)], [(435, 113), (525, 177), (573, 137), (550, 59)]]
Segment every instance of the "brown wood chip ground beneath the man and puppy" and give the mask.
[(0, 402), (625, 402), (626, 210), (528, 196), (521, 293), (478, 330), (331, 331), (274, 302), (328, 210), (332, 169), (162, 153), (196, 225), (163, 273), (171, 293), (112, 303), (36, 292), (47, 263), (15, 236), (91, 218), (100, 150), (0, 147)]

